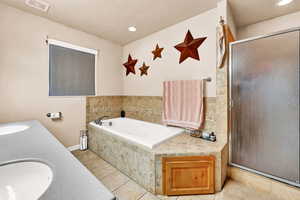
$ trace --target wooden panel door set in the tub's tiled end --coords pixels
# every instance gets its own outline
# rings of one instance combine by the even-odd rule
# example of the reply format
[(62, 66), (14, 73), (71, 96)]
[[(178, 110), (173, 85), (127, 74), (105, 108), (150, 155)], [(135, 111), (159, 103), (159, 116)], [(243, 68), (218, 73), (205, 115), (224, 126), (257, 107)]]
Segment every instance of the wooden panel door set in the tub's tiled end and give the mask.
[(214, 156), (164, 157), (162, 168), (166, 195), (215, 192)]

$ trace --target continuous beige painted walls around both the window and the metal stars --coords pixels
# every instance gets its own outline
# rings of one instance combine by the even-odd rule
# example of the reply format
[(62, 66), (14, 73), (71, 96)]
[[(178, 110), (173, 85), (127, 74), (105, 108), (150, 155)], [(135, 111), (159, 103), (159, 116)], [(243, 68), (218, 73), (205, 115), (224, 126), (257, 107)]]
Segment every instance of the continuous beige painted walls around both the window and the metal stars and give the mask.
[[(227, 5), (227, 1), (221, 1)], [(121, 47), (93, 35), (0, 4), (0, 123), (37, 119), (65, 146), (78, 144), (79, 130), (86, 124), (85, 97), (48, 97), (48, 47), (46, 36), (99, 50), (97, 95), (161, 96), (162, 81), (211, 77), (208, 97), (216, 96), (216, 25), (222, 6), (163, 29)], [(194, 37), (208, 37), (199, 48), (201, 61), (178, 64), (173, 47), (183, 41), (187, 30)], [(152, 61), (151, 51), (159, 43), (163, 58)], [(139, 62), (138, 75), (126, 77), (122, 63), (128, 53)], [(145, 61), (149, 76), (140, 77)], [(63, 120), (52, 122), (45, 114), (61, 111)]]

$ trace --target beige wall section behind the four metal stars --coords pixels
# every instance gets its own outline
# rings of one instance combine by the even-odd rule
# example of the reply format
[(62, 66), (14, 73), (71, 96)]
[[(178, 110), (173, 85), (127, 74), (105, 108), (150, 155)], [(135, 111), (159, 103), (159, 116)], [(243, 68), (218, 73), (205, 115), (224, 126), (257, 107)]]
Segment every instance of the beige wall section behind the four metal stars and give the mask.
[[(132, 42), (123, 49), (123, 62), (130, 53), (139, 61), (136, 65), (137, 75), (123, 74), (123, 95), (130, 96), (161, 96), (162, 82), (165, 80), (189, 80), (211, 77), (207, 84), (207, 95), (216, 96), (216, 24), (219, 20), (218, 9), (209, 10), (196, 17), (175, 24), (143, 39)], [(194, 38), (208, 37), (200, 46), (200, 62), (187, 59), (179, 64), (180, 52), (174, 46), (183, 42), (187, 30), (190, 29)], [(152, 60), (151, 51), (156, 44), (164, 47), (162, 59)], [(140, 77), (139, 67), (143, 62), (150, 65), (149, 75)]]

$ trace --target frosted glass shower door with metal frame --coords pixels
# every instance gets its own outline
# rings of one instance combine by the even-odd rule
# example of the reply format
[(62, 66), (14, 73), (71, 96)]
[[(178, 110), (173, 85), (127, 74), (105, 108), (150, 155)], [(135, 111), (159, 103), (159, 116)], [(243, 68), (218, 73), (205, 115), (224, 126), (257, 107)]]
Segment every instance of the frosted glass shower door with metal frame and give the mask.
[(300, 186), (299, 29), (230, 45), (231, 165)]

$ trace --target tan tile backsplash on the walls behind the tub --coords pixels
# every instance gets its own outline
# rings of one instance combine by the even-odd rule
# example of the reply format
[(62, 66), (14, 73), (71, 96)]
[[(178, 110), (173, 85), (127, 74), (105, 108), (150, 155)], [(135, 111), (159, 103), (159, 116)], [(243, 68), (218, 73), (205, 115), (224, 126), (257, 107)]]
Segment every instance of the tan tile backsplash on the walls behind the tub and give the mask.
[[(206, 120), (204, 130), (215, 131), (216, 98), (205, 99)], [(160, 96), (97, 96), (87, 97), (87, 123), (100, 116), (119, 117), (121, 110), (126, 116), (133, 119), (159, 123), (162, 119), (162, 97)]]

